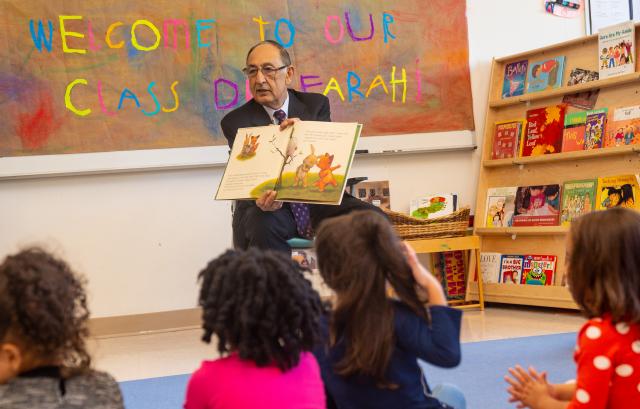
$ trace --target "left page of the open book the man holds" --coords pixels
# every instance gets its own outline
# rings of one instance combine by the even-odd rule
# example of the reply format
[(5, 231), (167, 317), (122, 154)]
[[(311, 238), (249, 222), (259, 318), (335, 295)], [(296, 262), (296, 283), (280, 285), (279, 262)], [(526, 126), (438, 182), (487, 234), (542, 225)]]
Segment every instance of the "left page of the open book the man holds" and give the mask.
[(291, 131), (277, 125), (238, 129), (216, 200), (256, 199), (275, 189)]

